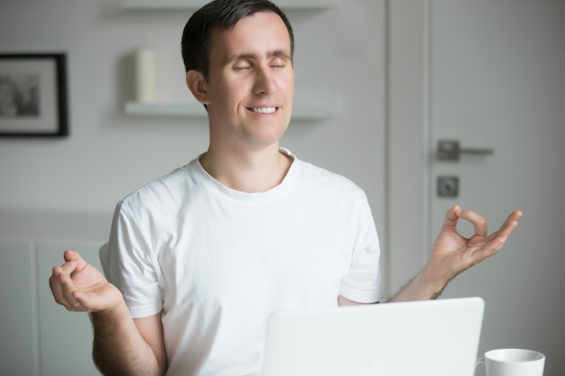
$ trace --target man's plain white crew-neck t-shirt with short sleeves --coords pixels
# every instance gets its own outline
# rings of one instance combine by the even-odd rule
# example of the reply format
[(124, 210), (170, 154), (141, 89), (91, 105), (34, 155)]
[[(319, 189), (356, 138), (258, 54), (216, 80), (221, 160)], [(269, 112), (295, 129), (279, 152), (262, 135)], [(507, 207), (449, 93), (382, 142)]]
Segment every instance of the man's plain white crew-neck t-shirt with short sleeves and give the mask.
[(118, 203), (108, 279), (133, 317), (162, 311), (167, 375), (260, 371), (273, 311), (383, 298), (365, 193), (292, 158), (266, 192), (226, 188), (196, 159)]

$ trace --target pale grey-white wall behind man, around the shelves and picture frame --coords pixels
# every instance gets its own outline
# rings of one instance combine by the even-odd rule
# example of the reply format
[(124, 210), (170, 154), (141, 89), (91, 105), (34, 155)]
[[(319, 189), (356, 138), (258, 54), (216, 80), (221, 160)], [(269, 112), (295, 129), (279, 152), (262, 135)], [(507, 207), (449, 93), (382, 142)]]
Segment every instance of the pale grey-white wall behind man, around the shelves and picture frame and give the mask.
[[(180, 41), (190, 12), (125, 11), (121, 2), (4, 1), (0, 51), (66, 51), (70, 136), (0, 139), (0, 209), (109, 213), (116, 200), (208, 146), (205, 119), (124, 115), (130, 53), (156, 51), (160, 99), (189, 97)], [(283, 4), (283, 3), (282, 3)], [(291, 11), (296, 90), (343, 93), (341, 115), (292, 124), (283, 144), (301, 159), (347, 174), (383, 202), (382, 2)], [(381, 216), (377, 215), (382, 224)]]

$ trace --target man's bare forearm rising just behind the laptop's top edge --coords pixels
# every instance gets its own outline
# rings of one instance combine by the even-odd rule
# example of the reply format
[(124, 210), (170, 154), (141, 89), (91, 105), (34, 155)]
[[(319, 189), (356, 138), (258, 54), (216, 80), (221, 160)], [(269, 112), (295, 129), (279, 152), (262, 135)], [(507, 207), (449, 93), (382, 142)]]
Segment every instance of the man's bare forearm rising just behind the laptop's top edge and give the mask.
[(441, 292), (445, 289), (448, 282), (449, 280), (441, 280), (434, 277), (428, 266), (425, 266), (416, 277), (404, 285), (404, 287), (388, 301), (399, 302), (435, 299), (441, 295)]

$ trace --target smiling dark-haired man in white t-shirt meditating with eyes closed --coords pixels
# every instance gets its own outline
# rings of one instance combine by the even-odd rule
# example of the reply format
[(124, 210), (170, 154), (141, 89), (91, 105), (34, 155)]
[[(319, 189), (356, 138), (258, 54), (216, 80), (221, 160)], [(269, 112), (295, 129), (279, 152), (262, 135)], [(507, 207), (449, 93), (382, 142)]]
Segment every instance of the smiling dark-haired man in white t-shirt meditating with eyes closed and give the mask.
[[(292, 51), (290, 23), (264, 0), (216, 0), (187, 23), (186, 82), (208, 111), (208, 151), (118, 203), (112, 283), (72, 250), (50, 279), (57, 302), (91, 313), (104, 373), (254, 373), (273, 311), (383, 300), (365, 193), (279, 145)], [(519, 216), (487, 235), (484, 218), (454, 206), (430, 261), (392, 300), (436, 298), (497, 252)], [(470, 239), (459, 218), (475, 226)]]

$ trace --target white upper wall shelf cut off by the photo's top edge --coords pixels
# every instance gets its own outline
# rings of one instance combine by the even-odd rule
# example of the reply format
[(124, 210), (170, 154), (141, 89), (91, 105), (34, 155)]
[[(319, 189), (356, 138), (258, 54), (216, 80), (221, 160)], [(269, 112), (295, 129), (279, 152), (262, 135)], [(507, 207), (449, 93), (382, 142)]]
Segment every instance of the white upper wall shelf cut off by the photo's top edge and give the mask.
[[(123, 0), (124, 8), (131, 10), (197, 10), (209, 0)], [(333, 8), (340, 0), (278, 0), (283, 10)]]

